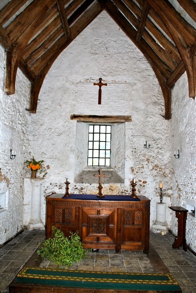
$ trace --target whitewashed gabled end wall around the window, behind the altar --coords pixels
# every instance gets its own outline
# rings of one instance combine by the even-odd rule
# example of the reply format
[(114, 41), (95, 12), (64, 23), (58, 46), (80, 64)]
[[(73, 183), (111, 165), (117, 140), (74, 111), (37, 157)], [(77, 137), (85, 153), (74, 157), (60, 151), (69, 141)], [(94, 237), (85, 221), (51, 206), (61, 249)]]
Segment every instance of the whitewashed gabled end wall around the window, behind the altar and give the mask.
[[(107, 86), (102, 87), (98, 105), (98, 86), (93, 82), (100, 77)], [(164, 98), (149, 63), (106, 12), (60, 54), (43, 82), (29, 147), (49, 168), (43, 199), (51, 192), (64, 193), (66, 177), (70, 192), (98, 192), (98, 184), (74, 183), (77, 122), (70, 120), (71, 114), (132, 116), (132, 122), (125, 123), (125, 184), (103, 184), (102, 192), (130, 194), (134, 177), (137, 194), (151, 199), (152, 226), (159, 182), (165, 187), (163, 201), (171, 204), (170, 121), (163, 117)], [(146, 140), (150, 149), (144, 148)], [(169, 209), (167, 213), (169, 224)]]

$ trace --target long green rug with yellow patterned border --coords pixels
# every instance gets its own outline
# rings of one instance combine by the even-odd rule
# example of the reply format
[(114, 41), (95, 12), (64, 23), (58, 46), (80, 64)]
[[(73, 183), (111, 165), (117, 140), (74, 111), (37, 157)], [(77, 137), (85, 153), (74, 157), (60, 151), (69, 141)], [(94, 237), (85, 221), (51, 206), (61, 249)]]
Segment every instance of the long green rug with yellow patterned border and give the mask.
[(66, 287), (181, 292), (178, 282), (169, 273), (144, 274), (23, 268), (17, 274), (16, 281)]

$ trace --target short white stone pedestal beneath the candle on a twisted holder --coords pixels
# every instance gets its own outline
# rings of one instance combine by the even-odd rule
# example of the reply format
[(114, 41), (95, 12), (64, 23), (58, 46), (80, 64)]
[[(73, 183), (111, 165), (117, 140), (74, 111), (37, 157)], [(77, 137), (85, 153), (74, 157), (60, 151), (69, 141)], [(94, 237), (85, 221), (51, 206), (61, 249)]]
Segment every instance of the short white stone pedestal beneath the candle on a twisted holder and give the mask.
[(168, 232), (165, 203), (156, 203), (156, 221), (154, 222), (152, 229), (162, 232), (163, 235)]

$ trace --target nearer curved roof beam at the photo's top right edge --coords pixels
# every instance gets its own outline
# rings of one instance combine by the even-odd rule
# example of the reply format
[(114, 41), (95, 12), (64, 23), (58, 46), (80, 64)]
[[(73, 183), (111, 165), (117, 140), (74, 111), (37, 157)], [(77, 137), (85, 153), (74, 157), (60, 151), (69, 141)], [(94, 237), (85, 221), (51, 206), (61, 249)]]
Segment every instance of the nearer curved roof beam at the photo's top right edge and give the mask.
[[(165, 0), (147, 0), (149, 4), (153, 7), (154, 10), (160, 15), (160, 17), (164, 20), (165, 25), (170, 31), (173, 40), (182, 56), (186, 72), (188, 78), (188, 86), (189, 86), (189, 97), (194, 98), (196, 96), (196, 58), (190, 54), (191, 45), (194, 43), (194, 35), (192, 36), (192, 44), (190, 44), (190, 38), (188, 37), (189, 33), (186, 29), (189, 28), (189, 25), (183, 25), (184, 20), (181, 22), (181, 18), (179, 13), (173, 11), (171, 9), (170, 3)], [(170, 9), (172, 13), (170, 14)], [(177, 14), (176, 14), (177, 13)], [(174, 18), (172, 18), (174, 17)], [(183, 30), (181, 31), (183, 25)]]

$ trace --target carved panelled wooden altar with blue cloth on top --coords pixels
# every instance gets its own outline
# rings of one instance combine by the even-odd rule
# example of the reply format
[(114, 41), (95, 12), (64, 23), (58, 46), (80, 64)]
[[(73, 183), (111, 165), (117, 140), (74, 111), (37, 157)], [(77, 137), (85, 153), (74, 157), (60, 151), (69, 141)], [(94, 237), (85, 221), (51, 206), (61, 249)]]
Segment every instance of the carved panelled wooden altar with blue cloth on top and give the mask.
[(52, 226), (65, 236), (78, 230), (84, 248), (149, 253), (150, 200), (145, 196), (52, 194), (46, 198), (46, 238)]

